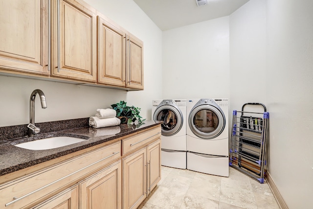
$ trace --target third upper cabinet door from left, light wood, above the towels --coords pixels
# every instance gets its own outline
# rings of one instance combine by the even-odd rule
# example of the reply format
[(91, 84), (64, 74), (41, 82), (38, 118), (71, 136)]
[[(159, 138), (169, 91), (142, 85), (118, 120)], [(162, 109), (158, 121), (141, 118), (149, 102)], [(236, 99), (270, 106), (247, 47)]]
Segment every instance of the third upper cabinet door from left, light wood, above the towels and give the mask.
[(125, 87), (126, 32), (98, 16), (98, 83)]

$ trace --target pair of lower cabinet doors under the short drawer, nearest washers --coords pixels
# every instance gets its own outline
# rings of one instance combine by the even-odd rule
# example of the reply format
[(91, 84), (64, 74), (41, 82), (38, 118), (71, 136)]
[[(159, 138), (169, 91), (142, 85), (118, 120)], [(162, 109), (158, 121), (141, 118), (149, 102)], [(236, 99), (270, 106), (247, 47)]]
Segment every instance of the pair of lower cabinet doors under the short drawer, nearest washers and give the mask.
[(160, 139), (122, 159), (123, 209), (137, 208), (161, 179)]

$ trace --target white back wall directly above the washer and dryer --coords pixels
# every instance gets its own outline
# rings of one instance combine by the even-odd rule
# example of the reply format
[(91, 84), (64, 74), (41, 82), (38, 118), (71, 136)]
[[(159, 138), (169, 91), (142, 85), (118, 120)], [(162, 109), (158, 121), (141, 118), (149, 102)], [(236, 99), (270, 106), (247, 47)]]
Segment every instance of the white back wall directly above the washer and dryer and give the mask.
[(163, 31), (158, 99), (229, 97), (229, 18)]

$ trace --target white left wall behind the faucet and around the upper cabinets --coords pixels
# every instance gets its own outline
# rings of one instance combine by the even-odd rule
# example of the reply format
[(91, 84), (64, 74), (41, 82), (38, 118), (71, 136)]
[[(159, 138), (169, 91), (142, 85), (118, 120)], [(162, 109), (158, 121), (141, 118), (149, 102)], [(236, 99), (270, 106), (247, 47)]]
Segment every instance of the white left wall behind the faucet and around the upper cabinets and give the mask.
[(41, 109), (40, 99), (36, 98), (35, 122), (93, 116), (97, 108), (108, 108), (120, 100), (140, 107), (140, 115), (151, 119), (151, 101), (162, 93), (162, 31), (133, 0), (85, 1), (143, 41), (144, 91), (126, 92), (0, 75), (0, 126), (29, 122), (29, 97), (35, 89), (45, 93), (48, 106)]

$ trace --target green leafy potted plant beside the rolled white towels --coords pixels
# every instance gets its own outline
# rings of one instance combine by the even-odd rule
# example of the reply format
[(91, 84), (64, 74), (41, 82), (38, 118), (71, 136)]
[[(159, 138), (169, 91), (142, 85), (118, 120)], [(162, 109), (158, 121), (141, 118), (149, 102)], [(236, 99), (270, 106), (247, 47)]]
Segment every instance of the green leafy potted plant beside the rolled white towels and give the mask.
[(142, 124), (145, 119), (139, 115), (140, 108), (134, 106), (127, 106), (127, 102), (120, 101), (112, 104), (111, 107), (116, 111), (116, 117), (121, 119), (121, 123), (137, 123)]

